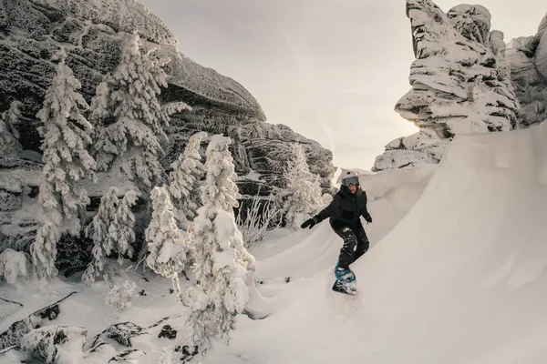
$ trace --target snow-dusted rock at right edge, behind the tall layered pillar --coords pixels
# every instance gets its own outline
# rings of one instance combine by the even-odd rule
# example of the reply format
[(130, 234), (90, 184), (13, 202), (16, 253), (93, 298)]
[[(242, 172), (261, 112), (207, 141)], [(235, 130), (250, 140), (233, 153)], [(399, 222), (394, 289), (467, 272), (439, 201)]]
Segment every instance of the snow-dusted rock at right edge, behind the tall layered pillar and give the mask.
[(521, 101), (521, 126), (547, 120), (547, 15), (538, 32), (507, 45), (511, 81)]

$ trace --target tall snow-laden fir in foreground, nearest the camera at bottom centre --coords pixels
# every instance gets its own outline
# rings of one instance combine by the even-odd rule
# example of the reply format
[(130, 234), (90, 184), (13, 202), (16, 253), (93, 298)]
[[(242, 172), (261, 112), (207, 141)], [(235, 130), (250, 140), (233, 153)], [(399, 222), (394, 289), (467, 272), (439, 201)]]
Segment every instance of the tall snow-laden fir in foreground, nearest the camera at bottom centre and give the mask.
[(237, 247), (243, 238), (233, 217), (239, 196), (232, 181), (234, 166), (228, 147), (231, 139), (212, 136), (206, 151), (206, 185), (190, 229), (192, 256), (197, 285), (182, 297), (187, 337), (185, 344), (193, 349), (207, 349), (209, 338), (227, 338), (234, 317), (249, 300), (245, 285), (246, 271), (238, 263)]

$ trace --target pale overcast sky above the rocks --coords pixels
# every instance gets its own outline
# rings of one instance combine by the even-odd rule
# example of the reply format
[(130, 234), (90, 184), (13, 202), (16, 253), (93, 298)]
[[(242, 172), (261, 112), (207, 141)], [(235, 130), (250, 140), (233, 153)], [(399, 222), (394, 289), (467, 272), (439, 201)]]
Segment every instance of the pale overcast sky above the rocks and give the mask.
[[(404, 0), (139, 0), (201, 66), (230, 76), (290, 126), (370, 169), (384, 146), (418, 129), (393, 111), (414, 60)], [(458, 1), (436, 2), (445, 12)], [(506, 42), (535, 35), (542, 0), (483, 0)]]

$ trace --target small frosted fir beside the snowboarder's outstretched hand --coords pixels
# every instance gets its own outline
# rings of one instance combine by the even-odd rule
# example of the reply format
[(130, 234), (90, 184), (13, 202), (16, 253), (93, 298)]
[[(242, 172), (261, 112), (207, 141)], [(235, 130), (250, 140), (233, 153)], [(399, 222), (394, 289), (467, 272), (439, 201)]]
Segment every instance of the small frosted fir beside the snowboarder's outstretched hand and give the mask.
[(319, 177), (310, 172), (305, 159), (304, 147), (294, 144), (293, 157), (289, 160), (284, 177), (287, 179), (285, 218), (288, 227), (298, 228), (305, 219), (315, 214), (322, 204)]

